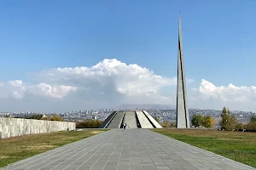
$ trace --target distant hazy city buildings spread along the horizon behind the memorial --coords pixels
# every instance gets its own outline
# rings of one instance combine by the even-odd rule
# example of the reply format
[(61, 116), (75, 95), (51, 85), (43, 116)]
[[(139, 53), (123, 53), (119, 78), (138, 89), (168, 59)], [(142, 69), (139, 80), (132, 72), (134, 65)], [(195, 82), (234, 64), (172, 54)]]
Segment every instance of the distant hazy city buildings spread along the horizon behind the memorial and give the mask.
[[(143, 111), (148, 111), (151, 116), (157, 116), (160, 120), (160, 122), (164, 121), (172, 121), (176, 122), (176, 109), (172, 110), (155, 110), (155, 109), (139, 109)], [(131, 110), (98, 110), (98, 111), (65, 111), (61, 113), (45, 113), (45, 112), (15, 112), (15, 113), (9, 113), (9, 112), (0, 112), (0, 117), (3, 116), (9, 116), (9, 117), (30, 117), (32, 115), (38, 115), (42, 114), (44, 116), (49, 115), (60, 115), (62, 116), (66, 121), (73, 122), (73, 121), (84, 121), (84, 119), (99, 119), (104, 121), (113, 111), (135, 111), (134, 108)], [(216, 120), (215, 125), (218, 126), (218, 121), (220, 118), (222, 111), (215, 111), (215, 110), (197, 110), (197, 109), (189, 109), (189, 117), (191, 118), (195, 114), (201, 114), (202, 116), (212, 116), (213, 119)], [(253, 112), (248, 111), (231, 111), (231, 115), (236, 116), (237, 120), (241, 123), (248, 122), (250, 120), (250, 117), (255, 115)]]

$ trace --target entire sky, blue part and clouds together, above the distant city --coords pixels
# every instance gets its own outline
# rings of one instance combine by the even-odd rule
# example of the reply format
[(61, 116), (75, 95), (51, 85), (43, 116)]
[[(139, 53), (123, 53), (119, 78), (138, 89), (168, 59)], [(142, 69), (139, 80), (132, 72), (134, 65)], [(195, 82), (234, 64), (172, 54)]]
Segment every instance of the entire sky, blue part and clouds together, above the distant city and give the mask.
[(188, 107), (256, 111), (255, 8), (249, 0), (3, 2), (0, 111), (176, 105), (179, 11)]

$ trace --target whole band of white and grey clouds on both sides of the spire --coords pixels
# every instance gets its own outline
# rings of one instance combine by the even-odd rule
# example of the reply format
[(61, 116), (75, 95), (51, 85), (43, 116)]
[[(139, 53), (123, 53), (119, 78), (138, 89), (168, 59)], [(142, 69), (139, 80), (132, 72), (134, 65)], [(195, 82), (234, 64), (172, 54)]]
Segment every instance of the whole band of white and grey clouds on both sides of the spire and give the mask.
[[(30, 82), (0, 82), (2, 111), (72, 111), (114, 108), (124, 104), (176, 105), (176, 77), (161, 77), (140, 65), (104, 59), (91, 67), (53, 68), (34, 73)], [(201, 80), (189, 88), (189, 107), (221, 109), (224, 105), (252, 105), (256, 87), (217, 87)], [(172, 91), (172, 95), (168, 91)], [(168, 95), (167, 95), (168, 94)]]

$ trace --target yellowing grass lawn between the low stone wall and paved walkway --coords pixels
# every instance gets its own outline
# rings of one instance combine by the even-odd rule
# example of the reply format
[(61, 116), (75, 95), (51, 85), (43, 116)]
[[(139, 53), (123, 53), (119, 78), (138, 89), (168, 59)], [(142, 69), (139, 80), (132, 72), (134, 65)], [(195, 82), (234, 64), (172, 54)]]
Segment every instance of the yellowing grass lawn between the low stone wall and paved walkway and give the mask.
[(104, 131), (106, 130), (86, 129), (83, 131), (42, 133), (1, 139), (0, 167)]

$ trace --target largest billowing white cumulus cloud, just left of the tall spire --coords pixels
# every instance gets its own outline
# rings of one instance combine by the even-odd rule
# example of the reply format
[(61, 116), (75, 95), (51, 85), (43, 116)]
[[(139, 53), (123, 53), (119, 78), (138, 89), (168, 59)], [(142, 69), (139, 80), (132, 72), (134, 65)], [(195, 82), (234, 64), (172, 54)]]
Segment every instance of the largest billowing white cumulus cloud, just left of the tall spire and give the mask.
[[(160, 88), (176, 85), (177, 79), (160, 77), (139, 65), (104, 59), (91, 67), (55, 68), (39, 73), (40, 80), (79, 87), (84, 98), (96, 100), (157, 102)], [(166, 98), (165, 98), (166, 99)], [(170, 103), (171, 99), (166, 99)], [(113, 104), (112, 104), (113, 105)]]

